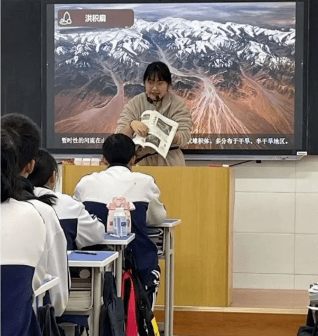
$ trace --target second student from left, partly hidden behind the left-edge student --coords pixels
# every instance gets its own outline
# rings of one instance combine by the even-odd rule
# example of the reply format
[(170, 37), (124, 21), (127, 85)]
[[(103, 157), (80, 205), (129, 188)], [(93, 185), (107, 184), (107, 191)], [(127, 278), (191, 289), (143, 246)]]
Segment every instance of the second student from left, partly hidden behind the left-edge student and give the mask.
[(53, 208), (40, 201), (33, 194), (33, 186), (27, 180), (28, 174), (34, 169), (35, 155), (40, 147), (40, 129), (28, 117), (12, 113), (1, 117), (1, 127), (6, 130), (17, 147), (17, 165), (19, 180), (23, 183), (24, 200), (28, 200), (37, 212), (40, 212), (47, 229), (46, 246), (47, 259), (45, 263), (47, 273), (58, 276), (58, 285), (49, 289), (51, 304), (55, 309), (56, 316), (62, 315), (67, 307), (69, 297), (69, 270), (67, 267), (67, 240), (60, 226), (58, 217)]

